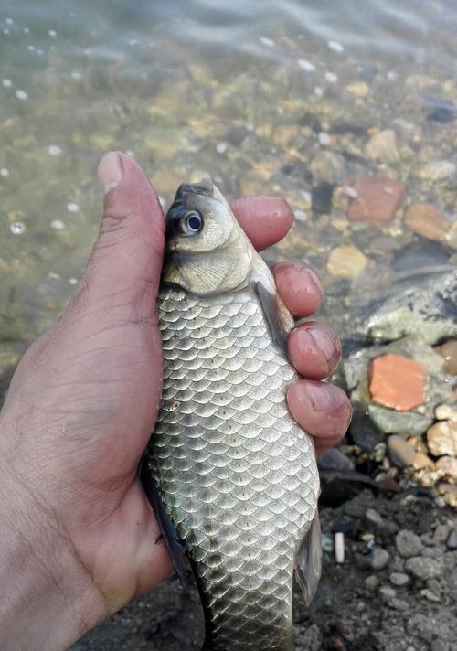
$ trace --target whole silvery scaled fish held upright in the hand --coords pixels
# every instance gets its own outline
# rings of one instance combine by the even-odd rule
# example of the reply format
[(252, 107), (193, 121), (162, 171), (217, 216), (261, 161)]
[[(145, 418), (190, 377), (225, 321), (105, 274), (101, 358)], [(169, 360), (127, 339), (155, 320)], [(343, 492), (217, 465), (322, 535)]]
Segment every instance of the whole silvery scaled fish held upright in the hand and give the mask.
[(175, 571), (188, 561), (204, 651), (291, 651), (293, 571), (321, 570), (312, 437), (288, 411), (293, 327), (271, 271), (209, 179), (165, 217), (162, 403), (141, 471)]

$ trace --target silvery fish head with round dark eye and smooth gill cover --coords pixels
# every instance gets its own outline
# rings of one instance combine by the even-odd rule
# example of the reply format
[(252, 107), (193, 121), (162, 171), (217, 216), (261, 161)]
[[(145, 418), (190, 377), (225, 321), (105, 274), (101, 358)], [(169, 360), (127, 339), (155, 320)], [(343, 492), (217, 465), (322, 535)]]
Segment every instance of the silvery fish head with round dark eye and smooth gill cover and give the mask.
[(164, 285), (207, 295), (250, 283), (257, 253), (211, 180), (178, 187), (165, 223)]

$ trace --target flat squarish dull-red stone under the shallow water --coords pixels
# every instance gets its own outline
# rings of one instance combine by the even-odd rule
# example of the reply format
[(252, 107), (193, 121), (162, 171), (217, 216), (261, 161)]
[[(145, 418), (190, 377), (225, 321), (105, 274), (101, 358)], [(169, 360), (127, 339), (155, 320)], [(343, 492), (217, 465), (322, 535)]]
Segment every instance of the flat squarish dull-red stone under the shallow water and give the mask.
[(384, 226), (394, 219), (405, 192), (402, 183), (389, 178), (366, 178), (347, 185), (356, 193), (347, 210), (348, 218), (375, 226)]

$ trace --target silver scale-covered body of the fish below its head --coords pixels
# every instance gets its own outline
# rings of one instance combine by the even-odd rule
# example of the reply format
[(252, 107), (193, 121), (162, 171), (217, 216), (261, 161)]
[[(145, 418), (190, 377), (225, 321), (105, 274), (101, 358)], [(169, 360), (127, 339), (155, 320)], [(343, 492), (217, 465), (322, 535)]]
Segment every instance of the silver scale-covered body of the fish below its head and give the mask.
[(159, 298), (164, 391), (148, 465), (186, 548), (210, 651), (292, 649), (293, 563), (314, 518), (314, 447), (251, 289)]

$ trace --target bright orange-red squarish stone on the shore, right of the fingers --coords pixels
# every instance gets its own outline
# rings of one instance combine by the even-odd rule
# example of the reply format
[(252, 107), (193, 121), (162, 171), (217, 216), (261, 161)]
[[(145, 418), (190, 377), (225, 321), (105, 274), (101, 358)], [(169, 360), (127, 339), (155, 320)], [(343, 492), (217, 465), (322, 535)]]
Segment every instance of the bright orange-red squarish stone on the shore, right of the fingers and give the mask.
[(425, 368), (415, 359), (388, 353), (372, 360), (369, 391), (372, 400), (397, 411), (410, 411), (425, 402)]

